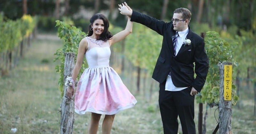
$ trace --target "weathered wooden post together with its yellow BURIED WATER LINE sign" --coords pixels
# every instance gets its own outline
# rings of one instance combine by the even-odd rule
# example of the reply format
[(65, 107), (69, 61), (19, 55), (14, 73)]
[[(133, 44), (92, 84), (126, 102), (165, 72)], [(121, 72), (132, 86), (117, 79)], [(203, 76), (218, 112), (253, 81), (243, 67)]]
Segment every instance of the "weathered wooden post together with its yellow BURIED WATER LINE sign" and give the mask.
[(219, 133), (231, 132), (231, 92), (232, 92), (232, 62), (218, 63), (220, 69), (220, 104), (219, 104)]

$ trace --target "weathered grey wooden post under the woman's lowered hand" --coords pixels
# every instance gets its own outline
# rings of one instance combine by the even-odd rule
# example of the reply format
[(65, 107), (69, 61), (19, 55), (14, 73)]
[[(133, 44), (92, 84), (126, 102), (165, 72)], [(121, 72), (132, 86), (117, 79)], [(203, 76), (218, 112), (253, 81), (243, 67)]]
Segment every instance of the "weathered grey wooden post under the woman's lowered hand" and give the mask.
[[(74, 69), (75, 53), (65, 53), (65, 64), (64, 64), (64, 83), (68, 76), (72, 75)], [(74, 98), (68, 98), (66, 96), (68, 87), (63, 86), (64, 95), (62, 97), (61, 108), (61, 121), (60, 121), (60, 134), (72, 134), (74, 124)]]

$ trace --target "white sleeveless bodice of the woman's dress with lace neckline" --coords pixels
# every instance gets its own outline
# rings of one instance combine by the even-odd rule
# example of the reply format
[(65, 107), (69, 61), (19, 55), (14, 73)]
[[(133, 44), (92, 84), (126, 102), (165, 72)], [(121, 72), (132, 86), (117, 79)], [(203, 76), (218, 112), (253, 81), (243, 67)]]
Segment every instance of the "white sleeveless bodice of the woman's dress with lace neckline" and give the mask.
[(105, 67), (109, 66), (109, 57), (111, 51), (108, 41), (96, 41), (90, 37), (86, 37), (88, 42), (88, 50), (85, 53), (88, 67)]

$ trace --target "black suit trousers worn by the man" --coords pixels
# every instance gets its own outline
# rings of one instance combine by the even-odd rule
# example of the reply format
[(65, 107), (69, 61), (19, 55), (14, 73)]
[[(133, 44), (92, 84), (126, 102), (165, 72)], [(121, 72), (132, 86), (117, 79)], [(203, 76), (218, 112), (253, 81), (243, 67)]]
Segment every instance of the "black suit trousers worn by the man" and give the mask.
[(159, 87), (159, 107), (163, 122), (164, 134), (178, 133), (178, 116), (183, 134), (196, 134), (194, 122), (194, 100), (191, 96), (191, 86), (181, 91), (165, 91), (165, 83)]

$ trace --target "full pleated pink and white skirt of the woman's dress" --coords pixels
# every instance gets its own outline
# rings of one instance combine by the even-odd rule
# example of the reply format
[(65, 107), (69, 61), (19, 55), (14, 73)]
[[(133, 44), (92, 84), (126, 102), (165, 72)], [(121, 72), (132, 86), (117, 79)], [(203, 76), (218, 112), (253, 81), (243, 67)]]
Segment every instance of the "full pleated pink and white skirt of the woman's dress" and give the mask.
[(75, 94), (75, 112), (113, 115), (137, 103), (132, 93), (110, 66), (87, 68)]

